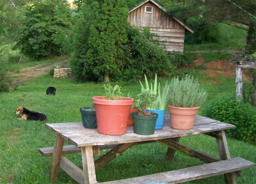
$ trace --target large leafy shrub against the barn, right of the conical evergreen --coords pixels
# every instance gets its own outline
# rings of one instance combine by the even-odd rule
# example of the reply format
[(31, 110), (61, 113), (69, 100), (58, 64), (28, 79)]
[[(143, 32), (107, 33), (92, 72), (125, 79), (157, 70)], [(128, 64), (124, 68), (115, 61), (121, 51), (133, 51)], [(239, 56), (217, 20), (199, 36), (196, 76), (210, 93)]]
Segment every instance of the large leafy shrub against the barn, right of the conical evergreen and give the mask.
[(128, 61), (122, 69), (123, 80), (138, 81), (143, 74), (148, 78), (153, 78), (155, 73), (159, 77), (173, 75), (175, 66), (168, 60), (166, 51), (157, 42), (151, 42), (152, 34), (148, 29), (141, 31), (137, 27), (129, 26), (127, 34)]

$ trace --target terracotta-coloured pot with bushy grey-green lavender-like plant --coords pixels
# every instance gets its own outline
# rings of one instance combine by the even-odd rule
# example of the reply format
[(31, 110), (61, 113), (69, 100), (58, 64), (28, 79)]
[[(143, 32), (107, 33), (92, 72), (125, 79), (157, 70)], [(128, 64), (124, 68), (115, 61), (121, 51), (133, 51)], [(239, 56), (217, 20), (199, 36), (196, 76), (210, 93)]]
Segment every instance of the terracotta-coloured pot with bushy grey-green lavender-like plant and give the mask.
[(193, 81), (193, 76), (181, 80), (172, 78), (169, 89), (167, 107), (171, 127), (177, 130), (192, 129), (198, 109), (206, 100), (206, 91), (199, 89), (199, 83)]

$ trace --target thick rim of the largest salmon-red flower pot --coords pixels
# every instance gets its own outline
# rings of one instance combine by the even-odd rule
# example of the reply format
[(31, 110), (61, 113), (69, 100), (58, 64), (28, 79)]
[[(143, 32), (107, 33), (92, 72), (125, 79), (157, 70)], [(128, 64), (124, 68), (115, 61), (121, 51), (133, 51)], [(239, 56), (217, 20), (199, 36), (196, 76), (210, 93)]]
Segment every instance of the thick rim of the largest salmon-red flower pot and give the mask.
[(92, 101), (95, 104), (118, 105), (118, 106), (132, 105), (134, 103), (134, 100), (129, 97), (123, 97), (123, 100), (105, 100), (102, 98), (103, 96), (94, 96)]

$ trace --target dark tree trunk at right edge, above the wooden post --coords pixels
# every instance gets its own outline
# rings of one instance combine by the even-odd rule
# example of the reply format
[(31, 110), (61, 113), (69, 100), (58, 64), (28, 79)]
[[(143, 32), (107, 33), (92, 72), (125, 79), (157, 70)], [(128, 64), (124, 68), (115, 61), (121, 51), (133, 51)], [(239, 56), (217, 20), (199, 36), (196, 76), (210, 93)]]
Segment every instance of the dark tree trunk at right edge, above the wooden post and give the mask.
[(252, 54), (256, 51), (256, 22), (252, 20), (246, 37), (246, 53)]

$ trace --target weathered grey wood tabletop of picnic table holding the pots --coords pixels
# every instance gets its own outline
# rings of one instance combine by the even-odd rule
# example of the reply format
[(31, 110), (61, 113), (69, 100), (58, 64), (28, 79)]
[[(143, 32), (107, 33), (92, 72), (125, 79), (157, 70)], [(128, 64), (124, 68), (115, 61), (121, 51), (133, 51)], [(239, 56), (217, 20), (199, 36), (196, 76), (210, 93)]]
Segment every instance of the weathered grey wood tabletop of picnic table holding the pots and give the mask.
[(86, 129), (82, 122), (45, 124), (62, 138), (72, 142), (77, 147), (94, 145), (111, 145), (120, 143), (142, 142), (158, 139), (183, 137), (219, 130), (234, 129), (233, 124), (222, 123), (218, 120), (196, 115), (195, 124), (191, 130), (175, 130), (170, 127), (170, 115), (165, 115), (165, 123), (162, 130), (155, 130), (153, 135), (138, 135), (133, 133), (133, 127), (127, 127), (124, 135), (103, 135), (97, 129)]

